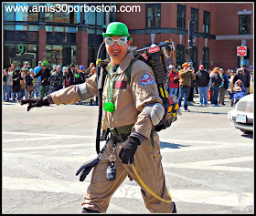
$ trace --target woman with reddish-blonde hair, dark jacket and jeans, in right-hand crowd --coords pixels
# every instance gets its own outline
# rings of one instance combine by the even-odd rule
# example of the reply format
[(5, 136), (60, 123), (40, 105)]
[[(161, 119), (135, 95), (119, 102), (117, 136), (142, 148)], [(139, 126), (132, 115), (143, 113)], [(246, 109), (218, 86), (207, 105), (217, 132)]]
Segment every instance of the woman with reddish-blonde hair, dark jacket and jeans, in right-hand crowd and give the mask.
[(222, 79), (219, 76), (219, 67), (214, 67), (213, 71), (211, 72), (210, 76), (210, 85), (213, 90), (213, 96), (211, 98), (212, 106), (219, 106), (218, 104), (218, 96), (219, 96), (219, 86), (222, 83)]

